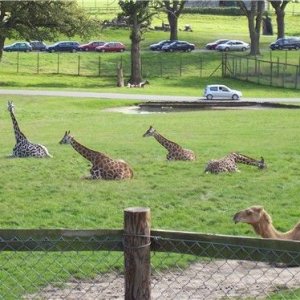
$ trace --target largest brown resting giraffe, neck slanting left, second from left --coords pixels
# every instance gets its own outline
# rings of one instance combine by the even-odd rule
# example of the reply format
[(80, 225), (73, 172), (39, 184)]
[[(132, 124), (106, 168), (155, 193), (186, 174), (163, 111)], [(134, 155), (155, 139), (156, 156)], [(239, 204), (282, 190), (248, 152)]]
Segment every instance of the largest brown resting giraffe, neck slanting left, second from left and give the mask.
[(84, 177), (85, 179), (120, 180), (133, 177), (133, 171), (125, 161), (112, 159), (81, 145), (70, 135), (70, 131), (65, 132), (60, 144), (71, 144), (74, 150), (92, 163), (91, 175)]

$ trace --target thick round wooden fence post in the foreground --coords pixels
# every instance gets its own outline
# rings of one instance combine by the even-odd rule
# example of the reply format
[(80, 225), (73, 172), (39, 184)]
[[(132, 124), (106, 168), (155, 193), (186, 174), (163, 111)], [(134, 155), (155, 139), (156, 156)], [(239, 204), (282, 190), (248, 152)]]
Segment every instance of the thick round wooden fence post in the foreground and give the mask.
[(125, 300), (150, 300), (150, 209), (124, 210)]

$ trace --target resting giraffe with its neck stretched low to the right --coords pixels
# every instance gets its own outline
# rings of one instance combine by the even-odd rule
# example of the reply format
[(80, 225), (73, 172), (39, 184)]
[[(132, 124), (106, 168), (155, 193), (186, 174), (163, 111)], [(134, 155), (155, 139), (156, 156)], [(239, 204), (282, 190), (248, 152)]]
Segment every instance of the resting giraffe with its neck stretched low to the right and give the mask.
[(209, 161), (204, 172), (211, 172), (214, 174), (222, 172), (239, 172), (237, 163), (257, 166), (259, 169), (264, 169), (267, 167), (263, 157), (261, 157), (261, 160), (256, 160), (249, 156), (232, 152), (221, 159)]

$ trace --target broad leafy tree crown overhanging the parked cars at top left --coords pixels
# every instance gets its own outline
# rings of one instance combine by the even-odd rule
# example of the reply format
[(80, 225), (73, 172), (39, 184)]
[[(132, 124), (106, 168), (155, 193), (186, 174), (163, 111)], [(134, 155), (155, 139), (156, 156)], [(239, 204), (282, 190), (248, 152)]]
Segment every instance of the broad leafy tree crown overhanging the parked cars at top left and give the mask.
[(87, 35), (95, 24), (75, 1), (0, 1), (0, 60), (7, 38), (54, 40)]

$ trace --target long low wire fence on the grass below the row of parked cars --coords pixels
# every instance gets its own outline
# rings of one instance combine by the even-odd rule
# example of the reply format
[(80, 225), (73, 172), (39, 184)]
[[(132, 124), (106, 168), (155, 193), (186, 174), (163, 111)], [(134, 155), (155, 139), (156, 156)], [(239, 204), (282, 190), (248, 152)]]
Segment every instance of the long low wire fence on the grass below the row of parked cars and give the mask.
[[(206, 53), (171, 53), (172, 59), (170, 55), (159, 54), (142, 56), (144, 77), (208, 76), (220, 64), (219, 55), (215, 61), (207, 61)], [(127, 54), (18, 52), (5, 53), (0, 72), (116, 77), (118, 65), (122, 65), (124, 76), (130, 75), (131, 61)]]

